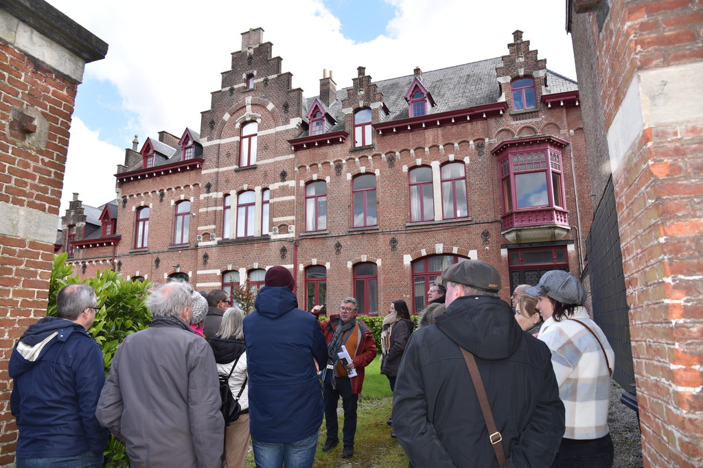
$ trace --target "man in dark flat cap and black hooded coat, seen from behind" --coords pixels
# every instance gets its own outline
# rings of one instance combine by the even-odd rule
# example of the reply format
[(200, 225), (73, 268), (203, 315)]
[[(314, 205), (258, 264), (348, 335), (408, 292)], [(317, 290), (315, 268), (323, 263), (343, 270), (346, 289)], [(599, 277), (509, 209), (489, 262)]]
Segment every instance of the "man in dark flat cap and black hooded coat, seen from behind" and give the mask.
[(461, 349), (475, 357), (505, 466), (549, 466), (565, 427), (549, 349), (498, 297), (494, 266), (465, 260), (442, 278), (446, 312), (411, 335), (396, 379), (393, 429), (411, 466), (499, 466)]

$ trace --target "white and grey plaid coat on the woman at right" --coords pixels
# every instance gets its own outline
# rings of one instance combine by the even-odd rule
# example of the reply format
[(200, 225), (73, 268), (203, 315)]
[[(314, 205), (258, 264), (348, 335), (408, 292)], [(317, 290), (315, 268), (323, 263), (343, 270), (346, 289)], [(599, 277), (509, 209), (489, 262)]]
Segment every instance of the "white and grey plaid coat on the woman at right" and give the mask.
[[(615, 353), (600, 327), (579, 306), (574, 316), (598, 335), (612, 366)], [(566, 410), (566, 438), (592, 439), (608, 433), (610, 374), (603, 351), (591, 332), (574, 320), (545, 320), (538, 339), (552, 351), (559, 396)]]

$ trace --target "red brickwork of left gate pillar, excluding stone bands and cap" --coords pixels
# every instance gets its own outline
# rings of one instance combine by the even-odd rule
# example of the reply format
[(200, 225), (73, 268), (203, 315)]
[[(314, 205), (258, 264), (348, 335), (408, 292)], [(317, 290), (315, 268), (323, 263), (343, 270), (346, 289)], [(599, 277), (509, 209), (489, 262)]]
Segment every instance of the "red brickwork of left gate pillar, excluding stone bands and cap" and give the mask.
[[(77, 84), (4, 41), (0, 75), (0, 122), (10, 122), (0, 136), (0, 202), (58, 215)], [(12, 130), (20, 113), (36, 131)], [(0, 235), (0, 465), (13, 462), (17, 438), (8, 359), (25, 328), (46, 314), (52, 260), (53, 241)]]

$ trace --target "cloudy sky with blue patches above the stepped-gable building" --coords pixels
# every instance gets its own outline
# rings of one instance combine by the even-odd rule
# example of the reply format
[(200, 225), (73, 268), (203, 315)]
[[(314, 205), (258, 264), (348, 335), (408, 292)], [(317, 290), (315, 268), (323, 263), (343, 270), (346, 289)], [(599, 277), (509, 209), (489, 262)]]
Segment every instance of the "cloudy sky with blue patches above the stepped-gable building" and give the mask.
[(109, 45), (78, 87), (60, 214), (72, 193), (92, 207), (115, 198), (135, 135), (141, 150), (162, 130), (200, 131), (250, 28), (264, 29), (305, 97), (318, 95), (323, 70), (342, 89), (359, 66), (380, 81), (507, 55), (515, 30), (549, 70), (576, 79), (562, 0), (46, 1)]

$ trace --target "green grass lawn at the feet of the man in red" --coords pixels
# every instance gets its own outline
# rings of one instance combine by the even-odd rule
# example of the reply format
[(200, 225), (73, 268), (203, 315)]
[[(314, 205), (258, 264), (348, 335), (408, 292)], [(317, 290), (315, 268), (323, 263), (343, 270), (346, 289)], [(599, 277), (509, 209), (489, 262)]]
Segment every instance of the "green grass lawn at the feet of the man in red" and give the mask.
[[(378, 467), (401, 468), (408, 466), (408, 459), (396, 439), (390, 436), (391, 428), (386, 421), (391, 415), (392, 394), (388, 378), (380, 375), (378, 356), (366, 368), (363, 379), (363, 390), (359, 398), (359, 410), (356, 420), (356, 438), (354, 441), (354, 457), (342, 459), (342, 443), (323, 452), (325, 443), (325, 423), (320, 428), (320, 437), (315, 455), (315, 468), (344, 468), (344, 467)], [(337, 417), (342, 436), (342, 401), (337, 408)], [(254, 467), (254, 455), (247, 455), (247, 468)]]

